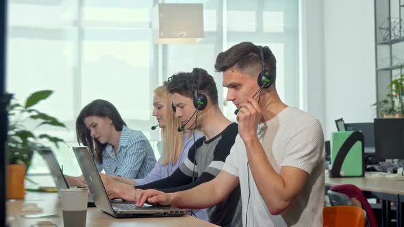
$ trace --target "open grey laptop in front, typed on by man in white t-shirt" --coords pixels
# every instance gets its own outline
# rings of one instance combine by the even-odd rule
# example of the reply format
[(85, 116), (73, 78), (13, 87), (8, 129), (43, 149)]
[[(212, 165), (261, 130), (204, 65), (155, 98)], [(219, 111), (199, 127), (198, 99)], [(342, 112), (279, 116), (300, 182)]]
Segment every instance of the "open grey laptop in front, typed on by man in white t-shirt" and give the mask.
[(183, 209), (145, 204), (138, 207), (134, 202), (110, 201), (90, 150), (86, 146), (73, 147), (81, 172), (86, 178), (95, 206), (116, 218), (126, 217), (172, 217), (186, 215)]

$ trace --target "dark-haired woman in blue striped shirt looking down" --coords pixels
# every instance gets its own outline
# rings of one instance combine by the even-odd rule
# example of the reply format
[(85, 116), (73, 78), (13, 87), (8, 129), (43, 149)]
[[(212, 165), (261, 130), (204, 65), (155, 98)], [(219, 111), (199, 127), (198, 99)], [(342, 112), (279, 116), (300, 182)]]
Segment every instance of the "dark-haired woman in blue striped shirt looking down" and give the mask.
[[(99, 172), (124, 178), (144, 178), (155, 157), (141, 131), (129, 129), (110, 102), (97, 99), (84, 107), (76, 120), (77, 142), (88, 146)], [(81, 186), (82, 177), (68, 177), (69, 185)]]

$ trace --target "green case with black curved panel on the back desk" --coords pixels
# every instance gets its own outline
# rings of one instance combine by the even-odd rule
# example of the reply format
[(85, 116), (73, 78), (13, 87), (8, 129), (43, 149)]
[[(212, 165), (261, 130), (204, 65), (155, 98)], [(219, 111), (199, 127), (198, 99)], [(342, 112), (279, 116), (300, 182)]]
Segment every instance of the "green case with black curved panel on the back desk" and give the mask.
[(331, 164), (329, 177), (364, 176), (364, 135), (360, 131), (333, 132)]

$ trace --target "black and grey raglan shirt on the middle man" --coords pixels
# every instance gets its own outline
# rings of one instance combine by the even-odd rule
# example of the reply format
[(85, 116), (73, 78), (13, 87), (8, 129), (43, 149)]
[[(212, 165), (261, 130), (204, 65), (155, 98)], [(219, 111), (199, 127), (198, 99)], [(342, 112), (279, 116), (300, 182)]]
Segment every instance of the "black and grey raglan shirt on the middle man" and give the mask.
[[(205, 137), (198, 139), (188, 151), (188, 158), (171, 176), (136, 188), (175, 192), (185, 191), (211, 181), (222, 170), (237, 134), (238, 124), (231, 123), (212, 139), (207, 141)], [(225, 201), (207, 209), (209, 222), (218, 226), (239, 226), (241, 224), (239, 200), (240, 186), (234, 189)]]

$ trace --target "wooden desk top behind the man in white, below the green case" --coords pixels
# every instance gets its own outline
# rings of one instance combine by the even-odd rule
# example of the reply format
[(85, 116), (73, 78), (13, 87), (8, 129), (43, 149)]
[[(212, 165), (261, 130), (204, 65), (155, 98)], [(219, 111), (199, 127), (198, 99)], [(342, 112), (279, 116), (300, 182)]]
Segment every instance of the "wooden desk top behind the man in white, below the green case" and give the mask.
[(404, 195), (404, 176), (389, 177), (387, 174), (366, 172), (365, 177), (329, 178), (325, 174), (325, 185), (352, 184), (363, 191), (374, 191)]

